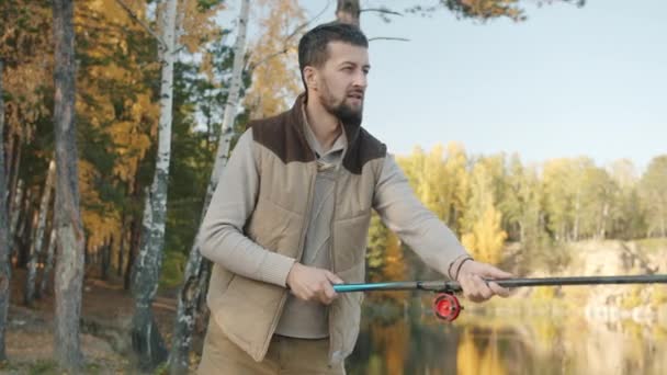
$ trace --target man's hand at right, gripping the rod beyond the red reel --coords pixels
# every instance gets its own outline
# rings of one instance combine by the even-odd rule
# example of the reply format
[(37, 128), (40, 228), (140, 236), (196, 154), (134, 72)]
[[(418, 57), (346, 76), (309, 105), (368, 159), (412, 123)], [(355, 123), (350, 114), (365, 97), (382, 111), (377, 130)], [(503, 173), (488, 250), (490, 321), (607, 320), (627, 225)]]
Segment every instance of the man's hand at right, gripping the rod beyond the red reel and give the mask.
[(511, 273), (501, 271), (490, 264), (468, 260), (461, 265), (456, 281), (463, 288), (463, 296), (472, 302), (481, 303), (498, 295), (507, 297), (510, 289), (497, 283), (486, 282), (490, 279), (509, 279)]

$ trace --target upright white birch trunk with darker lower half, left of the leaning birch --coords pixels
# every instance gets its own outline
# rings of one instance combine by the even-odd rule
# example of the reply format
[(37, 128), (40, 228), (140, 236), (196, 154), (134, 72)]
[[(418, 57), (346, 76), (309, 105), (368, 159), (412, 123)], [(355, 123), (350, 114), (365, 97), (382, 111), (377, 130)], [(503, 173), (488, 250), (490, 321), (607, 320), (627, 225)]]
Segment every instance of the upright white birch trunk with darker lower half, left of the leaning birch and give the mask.
[(154, 370), (167, 360), (167, 349), (152, 317), (151, 304), (158, 288), (165, 243), (167, 184), (171, 157), (171, 114), (173, 104), (173, 63), (176, 59), (177, 0), (167, 0), (160, 11), (162, 64), (160, 87), (160, 122), (156, 170), (144, 208), (142, 247), (133, 269), (135, 315), (132, 343), (143, 370)]

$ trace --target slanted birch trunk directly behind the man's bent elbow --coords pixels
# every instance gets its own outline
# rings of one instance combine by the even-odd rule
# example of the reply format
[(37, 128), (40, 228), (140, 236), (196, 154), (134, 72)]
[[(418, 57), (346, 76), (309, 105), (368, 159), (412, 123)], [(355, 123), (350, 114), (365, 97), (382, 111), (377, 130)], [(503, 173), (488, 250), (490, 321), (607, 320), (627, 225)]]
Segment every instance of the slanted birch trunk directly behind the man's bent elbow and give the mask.
[[(208, 181), (208, 186), (206, 189), (206, 197), (204, 198), (200, 225), (204, 215), (206, 215), (211, 197), (217, 186), (222, 171), (227, 164), (229, 146), (231, 138), (234, 137), (234, 120), (236, 118), (236, 110), (240, 95), (249, 9), (250, 1), (242, 0), (238, 18), (238, 35), (234, 44), (234, 66), (231, 68), (229, 94), (227, 96), (227, 102), (225, 103), (223, 128), (218, 140), (213, 172), (211, 173), (211, 180)], [(197, 232), (192, 249), (190, 250), (190, 257), (188, 258), (183, 286), (179, 293), (177, 319), (169, 356), (170, 374), (188, 373), (192, 330), (196, 321), (197, 306), (203, 288), (202, 285), (207, 283), (207, 280), (204, 280), (207, 275), (207, 273), (204, 272), (206, 270), (206, 260), (202, 259), (200, 252)]]

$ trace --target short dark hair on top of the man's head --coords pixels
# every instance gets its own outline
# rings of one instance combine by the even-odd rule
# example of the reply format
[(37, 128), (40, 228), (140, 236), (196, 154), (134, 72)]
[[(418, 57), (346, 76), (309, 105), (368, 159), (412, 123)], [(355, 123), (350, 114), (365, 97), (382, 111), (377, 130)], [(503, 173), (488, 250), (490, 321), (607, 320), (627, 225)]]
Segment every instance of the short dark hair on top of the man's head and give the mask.
[(319, 68), (329, 58), (327, 45), (330, 42), (344, 42), (353, 46), (369, 47), (369, 39), (355, 25), (342, 22), (318, 25), (308, 31), (298, 42), (298, 69), (302, 78), (306, 66)]

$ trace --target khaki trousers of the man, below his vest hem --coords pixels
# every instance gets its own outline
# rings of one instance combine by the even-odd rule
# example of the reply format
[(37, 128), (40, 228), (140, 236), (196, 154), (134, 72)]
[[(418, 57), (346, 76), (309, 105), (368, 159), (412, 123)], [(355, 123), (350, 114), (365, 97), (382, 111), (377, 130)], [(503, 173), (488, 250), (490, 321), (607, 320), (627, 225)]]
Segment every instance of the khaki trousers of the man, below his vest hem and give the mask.
[(343, 364), (329, 366), (329, 339), (306, 340), (273, 336), (262, 362), (244, 352), (211, 318), (204, 352), (197, 368), (200, 375), (344, 375)]

